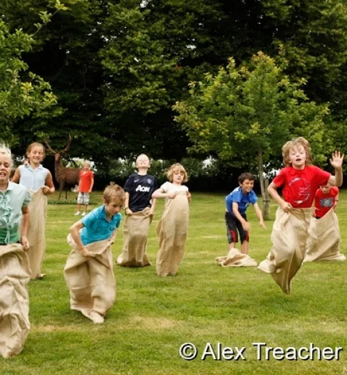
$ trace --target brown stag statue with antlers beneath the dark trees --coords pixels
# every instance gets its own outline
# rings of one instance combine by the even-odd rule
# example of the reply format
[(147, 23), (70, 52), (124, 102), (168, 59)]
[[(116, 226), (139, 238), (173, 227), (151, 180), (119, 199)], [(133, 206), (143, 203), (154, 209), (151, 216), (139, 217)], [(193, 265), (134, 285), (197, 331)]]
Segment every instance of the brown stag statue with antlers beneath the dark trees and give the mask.
[[(62, 149), (58, 152), (51, 149), (51, 146), (48, 143), (48, 140), (44, 140), (46, 147), (51, 155), (54, 156), (54, 176), (56, 177), (56, 181), (59, 183), (59, 197), (58, 201), (60, 201), (60, 196), (62, 194), (62, 190), (65, 189), (66, 185), (76, 185), (78, 184), (79, 176), (80, 176), (80, 169), (78, 168), (67, 168), (64, 167), (62, 164), (62, 156), (65, 156), (67, 151), (69, 151), (71, 142), (73, 137), (69, 135), (69, 140), (67, 141), (67, 146), (65, 149)], [(67, 190), (65, 190), (65, 200), (67, 199)]]

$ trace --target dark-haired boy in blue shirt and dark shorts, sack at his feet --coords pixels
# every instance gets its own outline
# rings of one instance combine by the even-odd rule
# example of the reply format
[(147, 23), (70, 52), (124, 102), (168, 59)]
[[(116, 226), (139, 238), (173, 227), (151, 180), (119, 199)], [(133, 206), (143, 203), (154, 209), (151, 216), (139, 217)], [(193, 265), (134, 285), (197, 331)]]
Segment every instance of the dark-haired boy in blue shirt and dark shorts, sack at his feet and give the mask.
[(257, 196), (253, 192), (255, 177), (249, 172), (241, 174), (238, 178), (239, 187), (226, 196), (226, 233), (229, 242), (229, 251), (235, 248), (238, 242), (237, 231), (241, 240), (241, 253), (247, 254), (249, 249), (249, 231), (246, 210), (249, 204), (253, 204), (255, 214), (259, 219), (259, 225), (266, 229), (262, 217), (262, 211), (257, 203)]

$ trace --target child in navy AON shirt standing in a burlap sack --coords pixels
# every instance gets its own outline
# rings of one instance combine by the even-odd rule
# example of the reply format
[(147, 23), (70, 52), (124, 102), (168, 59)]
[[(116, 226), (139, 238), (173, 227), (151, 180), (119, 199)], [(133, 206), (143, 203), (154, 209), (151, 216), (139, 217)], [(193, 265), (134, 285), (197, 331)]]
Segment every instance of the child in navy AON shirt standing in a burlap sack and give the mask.
[(123, 250), (117, 264), (124, 267), (151, 265), (146, 255), (149, 225), (155, 209), (152, 194), (156, 188), (155, 177), (147, 174), (151, 163), (144, 153), (137, 156), (137, 173), (132, 174), (126, 184), (125, 212), (123, 226)]

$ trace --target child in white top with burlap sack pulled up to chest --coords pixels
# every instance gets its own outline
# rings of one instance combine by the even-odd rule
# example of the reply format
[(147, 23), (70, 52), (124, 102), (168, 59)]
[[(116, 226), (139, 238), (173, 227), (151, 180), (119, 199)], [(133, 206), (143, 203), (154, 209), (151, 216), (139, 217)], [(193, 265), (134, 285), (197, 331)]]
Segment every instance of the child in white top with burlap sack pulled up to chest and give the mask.
[(159, 246), (157, 256), (158, 276), (174, 276), (185, 252), (189, 206), (192, 195), (187, 186), (187, 172), (182, 165), (171, 165), (167, 172), (169, 182), (153, 192), (153, 198), (166, 198), (164, 213), (157, 226)]

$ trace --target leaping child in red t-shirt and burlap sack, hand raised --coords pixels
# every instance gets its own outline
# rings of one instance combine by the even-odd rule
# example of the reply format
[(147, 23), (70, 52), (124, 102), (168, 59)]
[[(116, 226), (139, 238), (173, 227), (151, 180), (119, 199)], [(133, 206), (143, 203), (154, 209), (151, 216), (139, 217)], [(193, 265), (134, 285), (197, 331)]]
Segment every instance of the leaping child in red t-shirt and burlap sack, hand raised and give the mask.
[[(320, 185), (341, 186), (344, 156), (335, 151), (330, 164), (335, 176), (312, 163), (309, 142), (303, 137), (287, 142), (282, 147), (283, 168), (269, 185), (269, 194), (278, 203), (271, 240), (273, 247), (258, 269), (272, 275), (283, 292), (289, 294), (291, 279), (303, 263), (308, 228), (312, 217), (314, 194)], [(277, 192), (282, 188), (283, 198)]]

